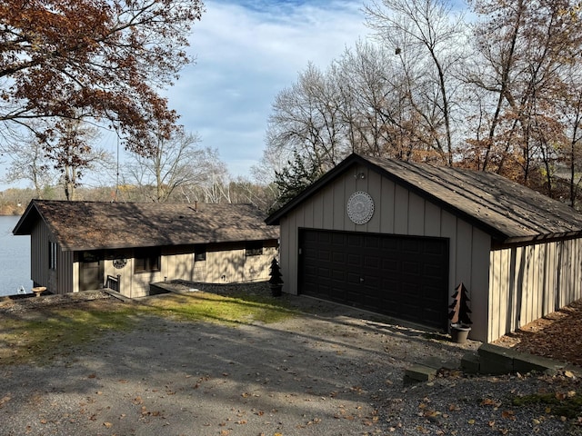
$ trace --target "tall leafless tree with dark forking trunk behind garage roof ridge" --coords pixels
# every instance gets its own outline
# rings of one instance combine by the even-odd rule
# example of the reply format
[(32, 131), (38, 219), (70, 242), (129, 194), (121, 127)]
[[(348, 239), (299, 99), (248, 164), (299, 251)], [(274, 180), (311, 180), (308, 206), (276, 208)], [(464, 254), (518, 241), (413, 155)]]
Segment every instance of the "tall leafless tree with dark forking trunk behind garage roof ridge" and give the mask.
[(452, 14), (446, 0), (375, 0), (365, 12), (366, 24), (401, 63), (408, 103), (420, 122), (416, 137), (452, 165), (462, 15)]

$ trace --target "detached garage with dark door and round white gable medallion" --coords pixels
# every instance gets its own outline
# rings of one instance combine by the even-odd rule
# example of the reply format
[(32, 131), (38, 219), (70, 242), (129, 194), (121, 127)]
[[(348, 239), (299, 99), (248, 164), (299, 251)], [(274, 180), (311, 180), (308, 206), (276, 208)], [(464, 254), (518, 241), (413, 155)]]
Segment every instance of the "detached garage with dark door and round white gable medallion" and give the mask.
[(494, 173), (352, 154), (272, 213), (285, 292), (491, 342), (582, 298), (582, 215)]

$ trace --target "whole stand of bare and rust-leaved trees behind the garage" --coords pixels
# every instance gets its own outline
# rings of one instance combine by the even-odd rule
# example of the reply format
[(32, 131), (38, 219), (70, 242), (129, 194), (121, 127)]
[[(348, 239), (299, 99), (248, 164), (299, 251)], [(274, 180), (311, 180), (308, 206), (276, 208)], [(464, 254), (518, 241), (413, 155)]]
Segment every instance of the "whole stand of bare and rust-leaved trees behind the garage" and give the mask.
[[(373, 0), (374, 41), (313, 64), (272, 104), (257, 173), (283, 201), (347, 154), (502, 174), (572, 206), (582, 171), (581, 7)], [(468, 19), (467, 16), (470, 18)]]

